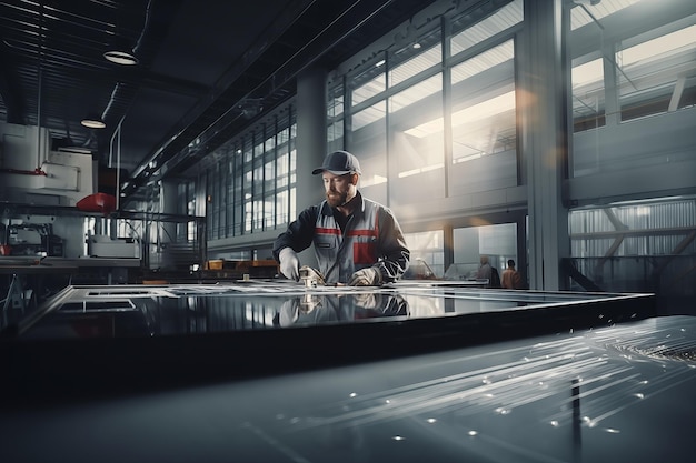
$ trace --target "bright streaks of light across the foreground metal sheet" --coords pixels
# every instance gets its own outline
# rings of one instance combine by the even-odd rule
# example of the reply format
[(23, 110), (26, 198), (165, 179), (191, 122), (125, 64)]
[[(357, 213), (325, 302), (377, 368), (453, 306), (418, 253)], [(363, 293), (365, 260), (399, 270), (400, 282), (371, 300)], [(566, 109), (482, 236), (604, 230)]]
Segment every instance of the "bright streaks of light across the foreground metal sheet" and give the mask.
[[(458, 417), (483, 412), (508, 415), (559, 392), (571, 391), (556, 404), (558, 411), (551, 407), (539, 417), (554, 426), (570, 424), (574, 416), (571, 411), (576, 409), (574, 402), (581, 401), (583, 424), (595, 427), (635, 402), (630, 399), (627, 402), (625, 397), (644, 399), (694, 379), (696, 365), (684, 368), (672, 362), (653, 362), (652, 365), (660, 370), (662, 378), (647, 381), (636, 369), (640, 360), (616, 362), (620, 358), (608, 353), (608, 350), (617, 346), (646, 344), (646, 334), (655, 336), (653, 344), (660, 334), (665, 335), (649, 329), (636, 331), (633, 326), (614, 326), (558, 341), (491, 350), (475, 356), (447, 360), (437, 365), (424, 365), (422, 369), (443, 368), (463, 372), (428, 378), (427, 381), (371, 394), (351, 393), (348, 399), (332, 405), (334, 412), (324, 417), (321, 424), (312, 422), (304, 426), (347, 423), (361, 426), (426, 412)], [(660, 339), (659, 342), (664, 349), (680, 343), (668, 339)], [(495, 362), (501, 358), (506, 360)]]

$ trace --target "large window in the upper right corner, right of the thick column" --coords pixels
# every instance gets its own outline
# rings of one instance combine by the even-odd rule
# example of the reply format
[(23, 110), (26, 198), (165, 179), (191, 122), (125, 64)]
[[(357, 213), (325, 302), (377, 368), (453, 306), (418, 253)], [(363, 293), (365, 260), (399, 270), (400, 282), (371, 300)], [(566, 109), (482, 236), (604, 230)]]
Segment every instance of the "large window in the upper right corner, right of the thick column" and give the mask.
[(666, 10), (623, 0), (573, 8), (571, 177), (693, 157), (696, 10), (669, 3)]

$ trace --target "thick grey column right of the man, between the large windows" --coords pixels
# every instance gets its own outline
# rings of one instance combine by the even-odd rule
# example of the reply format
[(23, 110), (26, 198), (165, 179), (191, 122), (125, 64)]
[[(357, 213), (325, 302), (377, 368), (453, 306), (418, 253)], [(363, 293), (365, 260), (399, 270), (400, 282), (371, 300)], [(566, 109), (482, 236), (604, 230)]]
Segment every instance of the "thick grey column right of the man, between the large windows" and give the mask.
[[(570, 67), (563, 38), (569, 11), (561, 1), (525, 2), (520, 36), (518, 109), (529, 208), (529, 285), (563, 290), (568, 279), (561, 259), (569, 255), (568, 211), (561, 187), (567, 178)], [(520, 262), (521, 263), (521, 262)]]

